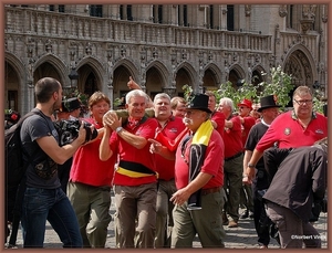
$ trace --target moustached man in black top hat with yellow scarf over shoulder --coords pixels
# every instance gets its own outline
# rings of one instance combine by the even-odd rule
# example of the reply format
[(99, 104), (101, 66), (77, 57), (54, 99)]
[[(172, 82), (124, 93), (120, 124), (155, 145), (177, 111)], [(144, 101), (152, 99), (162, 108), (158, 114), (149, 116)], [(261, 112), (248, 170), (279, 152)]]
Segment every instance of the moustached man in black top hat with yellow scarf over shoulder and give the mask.
[(176, 150), (172, 247), (191, 247), (196, 233), (203, 247), (225, 247), (225, 146), (212, 127), (208, 99), (205, 94), (194, 95), (186, 107), (184, 123), (190, 131)]

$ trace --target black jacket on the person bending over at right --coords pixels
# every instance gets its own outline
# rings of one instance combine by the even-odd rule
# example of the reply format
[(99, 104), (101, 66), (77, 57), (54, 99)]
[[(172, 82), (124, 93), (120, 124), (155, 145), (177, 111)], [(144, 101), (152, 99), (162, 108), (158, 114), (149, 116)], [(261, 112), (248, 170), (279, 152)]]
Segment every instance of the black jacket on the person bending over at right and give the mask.
[(292, 210), (308, 221), (313, 202), (326, 189), (328, 155), (318, 147), (271, 148), (264, 151), (266, 169), (272, 178), (263, 199)]

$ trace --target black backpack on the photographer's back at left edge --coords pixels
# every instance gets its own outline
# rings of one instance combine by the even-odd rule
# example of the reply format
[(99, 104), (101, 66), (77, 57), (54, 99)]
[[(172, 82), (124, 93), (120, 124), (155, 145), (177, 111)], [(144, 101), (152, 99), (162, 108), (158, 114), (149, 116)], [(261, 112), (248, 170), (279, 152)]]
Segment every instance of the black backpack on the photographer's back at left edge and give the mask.
[(41, 115), (38, 110), (25, 114), (15, 125), (4, 131), (4, 201), (6, 201), (6, 241), (9, 236), (8, 222), (12, 223), (12, 232), (10, 235), (9, 246), (14, 246), (17, 241), (17, 232), (21, 217), (21, 204), (25, 190), (24, 175), (28, 162), (23, 160), (23, 148), (20, 137), (21, 126), (25, 118), (34, 114)]

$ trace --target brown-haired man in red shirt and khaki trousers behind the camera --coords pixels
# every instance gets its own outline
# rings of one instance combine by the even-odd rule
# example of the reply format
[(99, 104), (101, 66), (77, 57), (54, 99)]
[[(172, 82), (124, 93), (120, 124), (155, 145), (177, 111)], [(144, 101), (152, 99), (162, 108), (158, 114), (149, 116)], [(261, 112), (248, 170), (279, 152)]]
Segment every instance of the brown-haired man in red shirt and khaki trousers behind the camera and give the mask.
[(89, 98), (90, 118), (83, 120), (98, 130), (98, 138), (82, 146), (73, 157), (68, 196), (76, 213), (84, 247), (104, 247), (111, 222), (111, 182), (116, 157), (102, 161), (98, 147), (103, 136), (103, 116), (110, 98), (95, 92)]

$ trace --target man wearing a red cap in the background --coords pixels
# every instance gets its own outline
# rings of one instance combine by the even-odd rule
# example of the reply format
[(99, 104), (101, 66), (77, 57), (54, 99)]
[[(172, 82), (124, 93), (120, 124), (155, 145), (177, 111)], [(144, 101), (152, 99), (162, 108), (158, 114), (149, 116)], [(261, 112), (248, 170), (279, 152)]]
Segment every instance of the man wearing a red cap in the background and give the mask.
[[(239, 118), (241, 122), (241, 130), (242, 130), (242, 144), (245, 146), (249, 130), (251, 127), (256, 124), (256, 118), (253, 118), (250, 115), (250, 112), (252, 110), (252, 103), (250, 99), (242, 99), (238, 104), (239, 109)], [(245, 212), (241, 214), (241, 219), (246, 219), (250, 217), (253, 218), (253, 200), (252, 200), (252, 191), (251, 187), (248, 187), (247, 185), (242, 186), (241, 192), (240, 192), (240, 203), (242, 203), (246, 207)]]

